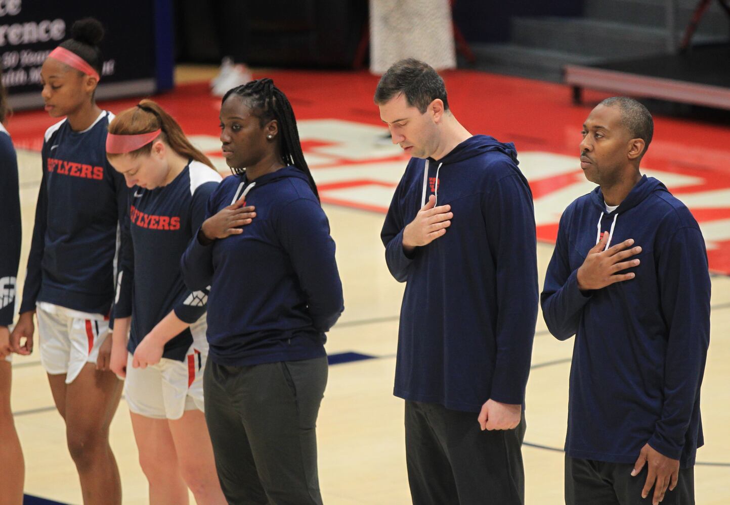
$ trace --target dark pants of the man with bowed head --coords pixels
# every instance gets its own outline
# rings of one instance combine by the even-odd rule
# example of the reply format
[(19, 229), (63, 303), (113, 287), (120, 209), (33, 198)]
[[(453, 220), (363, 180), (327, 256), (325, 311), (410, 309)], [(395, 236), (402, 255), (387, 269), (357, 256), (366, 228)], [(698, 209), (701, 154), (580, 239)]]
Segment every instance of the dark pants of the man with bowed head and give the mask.
[(406, 402), (406, 462), (414, 505), (522, 505), (525, 416), (481, 431), (475, 412)]

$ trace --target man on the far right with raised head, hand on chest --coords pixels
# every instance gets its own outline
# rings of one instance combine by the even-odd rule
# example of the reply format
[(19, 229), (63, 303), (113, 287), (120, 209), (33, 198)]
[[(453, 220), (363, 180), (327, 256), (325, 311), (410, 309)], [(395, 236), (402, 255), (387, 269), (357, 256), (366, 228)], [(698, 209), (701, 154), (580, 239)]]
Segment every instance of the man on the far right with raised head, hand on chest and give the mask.
[(694, 504), (710, 275), (688, 208), (639, 172), (652, 134), (631, 98), (591, 111), (580, 166), (599, 187), (566, 208), (545, 276), (550, 332), (576, 335), (566, 504)]

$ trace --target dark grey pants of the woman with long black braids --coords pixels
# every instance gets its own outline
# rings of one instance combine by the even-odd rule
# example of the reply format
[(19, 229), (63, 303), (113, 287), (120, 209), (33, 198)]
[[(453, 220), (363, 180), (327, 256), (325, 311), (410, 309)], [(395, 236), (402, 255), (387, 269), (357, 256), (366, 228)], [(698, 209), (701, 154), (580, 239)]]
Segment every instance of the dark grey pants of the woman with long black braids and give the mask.
[(208, 361), (205, 420), (233, 505), (322, 504), (315, 425), (327, 359), (226, 367)]

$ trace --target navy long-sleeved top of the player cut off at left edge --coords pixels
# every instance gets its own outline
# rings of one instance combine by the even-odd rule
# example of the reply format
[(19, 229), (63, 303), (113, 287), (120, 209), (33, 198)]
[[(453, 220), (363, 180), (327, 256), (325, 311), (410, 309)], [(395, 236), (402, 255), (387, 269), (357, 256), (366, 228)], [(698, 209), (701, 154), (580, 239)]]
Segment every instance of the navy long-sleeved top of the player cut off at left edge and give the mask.
[(10, 136), (0, 123), (0, 326), (12, 324), (16, 275), (20, 262), (20, 195), (18, 157)]

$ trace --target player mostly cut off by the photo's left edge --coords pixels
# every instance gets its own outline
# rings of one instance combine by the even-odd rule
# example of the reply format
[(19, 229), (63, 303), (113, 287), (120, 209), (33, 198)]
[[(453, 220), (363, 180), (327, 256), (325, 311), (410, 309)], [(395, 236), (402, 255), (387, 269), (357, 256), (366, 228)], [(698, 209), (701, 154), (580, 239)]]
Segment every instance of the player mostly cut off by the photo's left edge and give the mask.
[[(1, 77), (1, 72), (0, 72)], [(23, 503), (25, 465), (10, 408), (10, 329), (15, 314), (15, 276), (20, 262), (20, 195), (18, 158), (5, 120), (9, 115), (5, 87), (0, 80), (0, 505)]]

